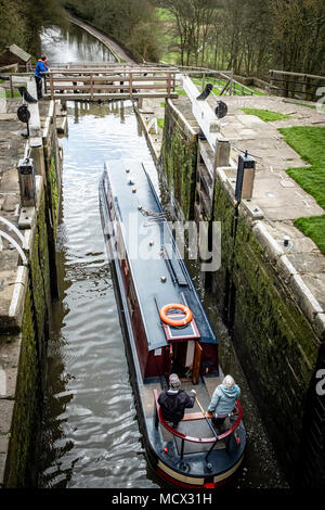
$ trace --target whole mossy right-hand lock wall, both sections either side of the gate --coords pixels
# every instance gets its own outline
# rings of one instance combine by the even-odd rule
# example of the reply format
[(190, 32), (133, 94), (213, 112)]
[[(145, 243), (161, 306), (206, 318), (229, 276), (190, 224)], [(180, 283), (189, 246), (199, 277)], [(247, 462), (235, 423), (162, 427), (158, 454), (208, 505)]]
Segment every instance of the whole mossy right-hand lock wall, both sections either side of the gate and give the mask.
[[(180, 176), (190, 171), (195, 140), (186, 137), (172, 110), (166, 110), (165, 126), (162, 170), (176, 200), (185, 206), (184, 216), (194, 219), (193, 195), (184, 199)], [(191, 182), (195, 173), (193, 162)], [(236, 204), (218, 169), (213, 196), (211, 217), (221, 222), (221, 267), (206, 275), (205, 283), (231, 332), (288, 482), (321, 486), (325, 405), (315, 392), (315, 373), (324, 368), (324, 339), (302, 311), (280, 258), (265, 245), (262, 222)]]

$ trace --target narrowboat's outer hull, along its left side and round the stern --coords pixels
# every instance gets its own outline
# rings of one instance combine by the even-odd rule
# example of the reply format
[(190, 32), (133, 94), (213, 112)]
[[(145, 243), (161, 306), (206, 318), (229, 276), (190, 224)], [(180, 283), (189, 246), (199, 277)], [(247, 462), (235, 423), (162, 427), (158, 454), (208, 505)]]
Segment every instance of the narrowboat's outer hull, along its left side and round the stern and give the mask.
[[(104, 186), (100, 186), (100, 211), (104, 241), (109, 258), (110, 272), (114, 283), (114, 292), (117, 301), (119, 321), (125, 341), (125, 350), (128, 359), (130, 380), (134, 392), (135, 406), (140, 431), (146, 458), (152, 470), (158, 475), (159, 484), (164, 486), (178, 486), (182, 488), (218, 487), (225, 484), (239, 468), (246, 444), (246, 435), (243, 423), (237, 431), (239, 444), (229, 445), (224, 451), (212, 451), (209, 462), (206, 454), (193, 452), (180, 458), (180, 451), (174, 444), (161, 441), (159, 428), (155, 417), (154, 395), (151, 386), (159, 386), (159, 381), (152, 384), (143, 382), (143, 374), (138, 359), (132, 318), (129, 313), (127, 295), (123, 284), (120, 262), (115, 244), (112, 242), (107, 197)], [(150, 406), (146, 404), (150, 399)], [(151, 408), (151, 412), (147, 408)]]

